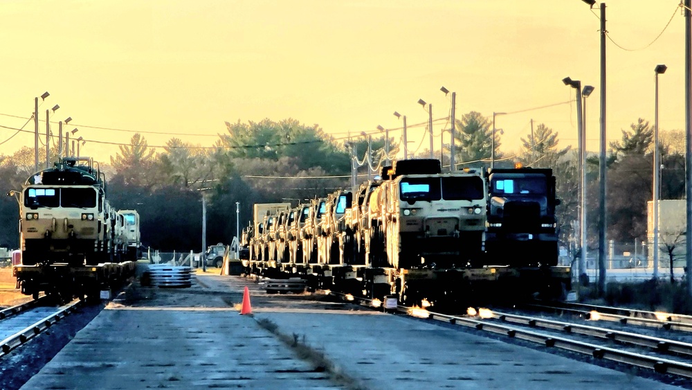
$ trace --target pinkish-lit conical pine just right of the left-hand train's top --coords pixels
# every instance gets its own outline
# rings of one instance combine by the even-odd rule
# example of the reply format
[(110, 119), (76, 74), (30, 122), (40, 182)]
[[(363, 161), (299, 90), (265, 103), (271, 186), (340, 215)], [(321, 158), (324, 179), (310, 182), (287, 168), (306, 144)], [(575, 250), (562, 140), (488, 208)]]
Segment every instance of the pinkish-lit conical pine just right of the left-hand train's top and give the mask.
[(152, 185), (154, 177), (152, 167), (154, 165), (154, 148), (149, 148), (145, 138), (135, 133), (130, 139), (129, 145), (120, 145), (120, 152), (116, 157), (111, 157), (111, 166), (116, 170), (116, 175), (124, 177), (127, 185)]

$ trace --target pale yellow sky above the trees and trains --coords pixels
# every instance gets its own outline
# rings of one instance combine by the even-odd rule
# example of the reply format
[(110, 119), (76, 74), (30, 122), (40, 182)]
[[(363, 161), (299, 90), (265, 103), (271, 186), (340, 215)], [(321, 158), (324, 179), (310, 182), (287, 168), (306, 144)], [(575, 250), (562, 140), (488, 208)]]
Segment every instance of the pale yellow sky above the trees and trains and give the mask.
[[(659, 128), (684, 128), (679, 3), (606, 1), (608, 141), (639, 117), (653, 125), (657, 64), (668, 66)], [(443, 86), (457, 94), (457, 118), (507, 113), (496, 117), (502, 150), (519, 148), (531, 119), (558, 132), (561, 146), (576, 145), (567, 76), (596, 87), (586, 132), (597, 151), (599, 15), (581, 0), (3, 0), (0, 153), (33, 148), (27, 121), (45, 91), (42, 142), (46, 109), (57, 104), (53, 134), (73, 118), (64, 130), (78, 128), (80, 154), (103, 162), (135, 132), (152, 146), (173, 136), (210, 146), (226, 121), (294, 118), (336, 139), (381, 125), (399, 138), (395, 111), (407, 116), (409, 151), (421, 152), (429, 141), (415, 125), (428, 114), (419, 99), (440, 118), (437, 152), (451, 103)], [(25, 123), (26, 132), (12, 130)]]

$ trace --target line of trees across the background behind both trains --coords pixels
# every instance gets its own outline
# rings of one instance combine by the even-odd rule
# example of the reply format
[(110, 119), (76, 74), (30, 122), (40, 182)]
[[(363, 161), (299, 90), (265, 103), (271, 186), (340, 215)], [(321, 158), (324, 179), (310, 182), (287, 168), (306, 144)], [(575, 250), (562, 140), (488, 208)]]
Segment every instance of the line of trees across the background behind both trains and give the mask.
[[(468, 112), (457, 119), (455, 143), (457, 168), (489, 168), (493, 148), (491, 118)], [(509, 130), (511, 131), (511, 130)], [(652, 197), (653, 128), (639, 118), (621, 130), (620, 141), (608, 151), (608, 239), (631, 242), (646, 240), (646, 202)], [(370, 165), (385, 158), (385, 136), (368, 141), (362, 136), (335, 139), (318, 125), (295, 119), (260, 122), (226, 122), (226, 131), (211, 145), (194, 145), (171, 138), (163, 150), (149, 147), (142, 134), (134, 134), (110, 161), (100, 161), (107, 177), (107, 197), (116, 209), (136, 209), (141, 215), (143, 244), (162, 251), (201, 249), (202, 197), (207, 204), (207, 245), (230, 243), (236, 234), (236, 202), (239, 227), (252, 218), (252, 206), (263, 202), (295, 205), (325, 196), (350, 185), (349, 175), (357, 162), (358, 181), (366, 179), (365, 152)], [(684, 197), (684, 134), (662, 132), (662, 199)], [(399, 143), (390, 137), (390, 159)], [(516, 162), (534, 168), (552, 168), (561, 199), (558, 218), (564, 247), (574, 240), (579, 205), (579, 163), (576, 150), (560, 148), (558, 132), (538, 123), (531, 135), (521, 139), (517, 150), (501, 145), (495, 132), (495, 166)], [(45, 149), (44, 149), (45, 150)], [(56, 148), (53, 148), (56, 150)], [(45, 151), (43, 152), (45, 153)], [(44, 154), (40, 154), (44, 155)], [(439, 156), (439, 152), (436, 152)], [(426, 158), (428, 150), (417, 157)], [(448, 150), (443, 153), (448, 165)], [(21, 189), (33, 174), (33, 148), (0, 155), (0, 187), (6, 192)], [(57, 155), (53, 156), (57, 159)], [(356, 163), (354, 163), (354, 160)], [(598, 215), (597, 155), (588, 156), (588, 245), (597, 248)], [(374, 174), (373, 174), (374, 175)], [(0, 202), (0, 245), (19, 246), (18, 204), (12, 197)]]

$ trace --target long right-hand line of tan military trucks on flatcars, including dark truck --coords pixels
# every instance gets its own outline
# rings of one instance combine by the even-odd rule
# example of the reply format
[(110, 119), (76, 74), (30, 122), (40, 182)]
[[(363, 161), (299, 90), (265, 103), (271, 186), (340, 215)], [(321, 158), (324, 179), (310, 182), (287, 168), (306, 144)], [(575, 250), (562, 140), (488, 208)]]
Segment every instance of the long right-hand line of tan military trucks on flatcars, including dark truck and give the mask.
[(572, 279), (558, 265), (558, 204), (550, 169), (442, 172), (439, 160), (399, 160), (357, 188), (297, 206), (256, 204), (243, 265), (407, 305), (556, 299)]

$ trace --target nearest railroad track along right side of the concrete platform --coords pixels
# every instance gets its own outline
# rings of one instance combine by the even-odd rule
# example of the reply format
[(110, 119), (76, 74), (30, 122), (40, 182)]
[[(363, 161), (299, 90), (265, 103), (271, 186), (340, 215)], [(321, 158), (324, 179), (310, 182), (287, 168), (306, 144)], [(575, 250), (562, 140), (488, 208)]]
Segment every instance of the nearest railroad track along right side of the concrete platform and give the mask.
[[(381, 308), (382, 305), (379, 300), (364, 299), (349, 294), (329, 293), (340, 296), (347, 301), (355, 301), (374, 308)], [(493, 312), (487, 309), (478, 310), (473, 315), (442, 314), (424, 308), (408, 308), (401, 305), (397, 305), (394, 310), (412, 317), (443, 321), (509, 338), (523, 339), (549, 348), (561, 348), (590, 355), (597, 359), (639, 366), (657, 373), (692, 378), (692, 344), (689, 343), (595, 326), (584, 326), (577, 323)], [(556, 331), (561, 335), (556, 335)], [(595, 337), (601, 341), (605, 340), (605, 343), (597, 344), (597, 342), (585, 341), (584, 336)], [(613, 342), (619, 344), (612, 345)], [(675, 353), (675, 355), (668, 357), (664, 356), (665, 353)]]

